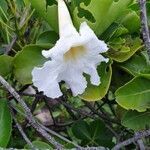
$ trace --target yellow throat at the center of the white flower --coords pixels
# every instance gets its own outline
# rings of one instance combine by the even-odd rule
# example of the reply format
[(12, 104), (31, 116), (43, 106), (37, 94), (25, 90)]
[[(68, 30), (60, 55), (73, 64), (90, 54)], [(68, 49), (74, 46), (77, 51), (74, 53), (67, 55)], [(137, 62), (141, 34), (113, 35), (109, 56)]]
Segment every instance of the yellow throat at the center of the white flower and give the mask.
[(86, 53), (86, 49), (83, 46), (72, 47), (64, 54), (64, 60), (76, 60), (78, 57), (83, 56)]

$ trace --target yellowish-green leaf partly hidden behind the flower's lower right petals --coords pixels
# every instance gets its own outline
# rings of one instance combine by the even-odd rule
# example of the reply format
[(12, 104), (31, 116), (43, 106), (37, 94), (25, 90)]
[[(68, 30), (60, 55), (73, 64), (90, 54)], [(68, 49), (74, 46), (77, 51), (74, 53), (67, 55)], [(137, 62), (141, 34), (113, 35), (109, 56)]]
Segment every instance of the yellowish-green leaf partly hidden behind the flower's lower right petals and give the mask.
[(107, 93), (112, 76), (111, 63), (102, 62), (98, 66), (98, 74), (100, 76), (101, 84), (99, 86), (94, 86), (90, 83), (89, 76), (87, 77), (88, 85), (85, 92), (80, 95), (80, 97), (86, 101), (97, 101), (101, 100)]

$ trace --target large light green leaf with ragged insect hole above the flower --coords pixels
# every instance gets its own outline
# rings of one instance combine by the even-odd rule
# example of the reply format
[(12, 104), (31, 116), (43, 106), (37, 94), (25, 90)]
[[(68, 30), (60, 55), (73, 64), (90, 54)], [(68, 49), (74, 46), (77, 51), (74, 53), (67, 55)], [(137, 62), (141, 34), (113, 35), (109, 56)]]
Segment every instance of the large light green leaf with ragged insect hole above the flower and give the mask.
[(75, 25), (79, 28), (81, 22), (86, 21), (97, 35), (101, 35), (113, 22), (119, 19), (129, 4), (133, 2), (133, 0), (91, 0), (88, 4), (84, 4), (82, 0), (78, 7), (75, 5), (76, 1), (72, 1), (72, 5), (75, 7), (73, 12)]

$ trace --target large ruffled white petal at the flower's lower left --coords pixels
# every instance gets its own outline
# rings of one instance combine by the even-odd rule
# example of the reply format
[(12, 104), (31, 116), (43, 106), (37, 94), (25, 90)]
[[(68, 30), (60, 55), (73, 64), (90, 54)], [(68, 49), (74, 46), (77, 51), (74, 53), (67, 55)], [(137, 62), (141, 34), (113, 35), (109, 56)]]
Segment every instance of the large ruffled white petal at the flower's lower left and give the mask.
[(58, 98), (62, 95), (58, 84), (58, 74), (61, 71), (60, 65), (55, 61), (47, 61), (43, 67), (35, 67), (32, 71), (32, 81), (39, 91), (51, 98)]

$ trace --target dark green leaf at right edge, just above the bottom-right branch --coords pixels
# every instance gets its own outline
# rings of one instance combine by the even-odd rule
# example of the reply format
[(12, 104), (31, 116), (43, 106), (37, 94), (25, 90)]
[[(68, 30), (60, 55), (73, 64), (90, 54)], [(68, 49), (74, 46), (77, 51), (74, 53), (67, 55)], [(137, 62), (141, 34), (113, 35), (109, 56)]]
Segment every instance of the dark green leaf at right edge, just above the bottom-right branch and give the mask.
[(150, 112), (128, 111), (122, 118), (122, 125), (133, 130), (144, 130), (150, 127)]

